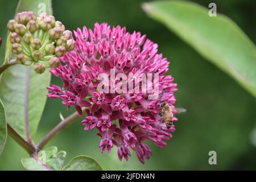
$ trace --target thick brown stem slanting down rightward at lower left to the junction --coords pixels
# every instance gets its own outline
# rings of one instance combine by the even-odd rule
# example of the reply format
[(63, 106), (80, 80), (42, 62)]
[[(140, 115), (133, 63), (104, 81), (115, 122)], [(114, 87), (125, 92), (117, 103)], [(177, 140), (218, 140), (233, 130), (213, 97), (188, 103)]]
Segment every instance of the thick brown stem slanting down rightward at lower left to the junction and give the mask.
[(11, 137), (21, 146), (23, 147), (28, 154), (32, 155), (36, 149), (35, 146), (27, 143), (26, 140), (24, 140), (22, 137), (20, 137), (20, 135), (18, 133), (16, 133), (16, 131), (13, 129), (13, 127), (11, 127), (11, 125), (9, 125), (9, 123), (7, 123), (7, 129), (8, 129), (8, 134), (11, 135)]

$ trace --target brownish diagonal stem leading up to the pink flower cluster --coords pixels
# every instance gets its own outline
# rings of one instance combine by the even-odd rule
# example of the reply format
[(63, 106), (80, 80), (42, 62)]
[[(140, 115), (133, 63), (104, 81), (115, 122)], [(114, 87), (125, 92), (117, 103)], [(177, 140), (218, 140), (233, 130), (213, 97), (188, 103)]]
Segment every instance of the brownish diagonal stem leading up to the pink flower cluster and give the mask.
[[(84, 109), (83, 109), (84, 112)], [(59, 131), (63, 130), (65, 127), (70, 125), (71, 123), (75, 122), (80, 115), (75, 112), (71, 115), (69, 115), (67, 118), (63, 119), (57, 126), (55, 126), (47, 135), (44, 137), (39, 144), (36, 146), (37, 150), (42, 150), (42, 148), (46, 145), (49, 140), (51, 140)]]

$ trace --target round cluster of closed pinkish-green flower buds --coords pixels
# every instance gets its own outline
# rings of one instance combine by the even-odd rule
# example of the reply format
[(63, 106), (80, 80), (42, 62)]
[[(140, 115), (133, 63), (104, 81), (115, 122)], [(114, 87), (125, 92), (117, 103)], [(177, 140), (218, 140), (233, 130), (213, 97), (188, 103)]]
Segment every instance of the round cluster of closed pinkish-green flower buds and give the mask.
[(34, 64), (36, 73), (58, 67), (59, 57), (75, 48), (72, 32), (47, 13), (37, 17), (32, 11), (23, 11), (9, 20), (7, 28), (16, 63)]

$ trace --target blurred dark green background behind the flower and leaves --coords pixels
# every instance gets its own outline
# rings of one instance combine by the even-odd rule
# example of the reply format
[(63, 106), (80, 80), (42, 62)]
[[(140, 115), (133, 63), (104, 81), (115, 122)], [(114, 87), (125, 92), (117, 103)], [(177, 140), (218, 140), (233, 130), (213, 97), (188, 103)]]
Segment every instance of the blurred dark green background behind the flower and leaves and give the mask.
[[(141, 31), (159, 44), (159, 52), (163, 52), (171, 61), (169, 73), (178, 84), (176, 105), (187, 109), (187, 113), (178, 116), (174, 137), (163, 150), (150, 143), (153, 155), (144, 165), (139, 163), (134, 153), (129, 162), (119, 162), (116, 148), (110, 154), (101, 154), (98, 148), (100, 137), (96, 136), (96, 130), (84, 131), (80, 121), (61, 131), (47, 146), (57, 146), (59, 150), (67, 151), (66, 163), (73, 156), (89, 155), (109, 170), (256, 169), (255, 98), (162, 24), (148, 18), (141, 9), (142, 2), (53, 0), (52, 3), (56, 19), (69, 30), (83, 25), (92, 28), (95, 22), (108, 22), (115, 26), (126, 26), (130, 32)], [(229, 16), (256, 42), (255, 2), (195, 2), (205, 7), (215, 2), (217, 13)], [(13, 18), (17, 3), (11, 0), (0, 2), (0, 37), (3, 39), (1, 60), (5, 51), (6, 23)], [(52, 78), (52, 82), (61, 85), (56, 77)], [(60, 100), (47, 100), (35, 137), (36, 143), (57, 125), (60, 111), (65, 117), (74, 110), (67, 111)], [(252, 137), (253, 131), (255, 137)], [(208, 163), (208, 152), (211, 150), (217, 152), (217, 165)], [(0, 156), (0, 170), (23, 170), (20, 159), (27, 157), (26, 152), (8, 137)]]

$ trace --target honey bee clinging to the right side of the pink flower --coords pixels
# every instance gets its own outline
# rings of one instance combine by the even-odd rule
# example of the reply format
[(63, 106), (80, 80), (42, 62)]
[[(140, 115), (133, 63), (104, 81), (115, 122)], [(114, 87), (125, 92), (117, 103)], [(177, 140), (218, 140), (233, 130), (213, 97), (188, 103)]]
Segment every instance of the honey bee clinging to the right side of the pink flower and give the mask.
[(160, 104), (160, 117), (164, 117), (164, 123), (166, 123), (167, 129), (170, 129), (174, 123), (174, 114), (172, 113), (172, 107), (166, 102)]

